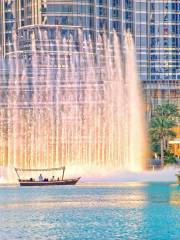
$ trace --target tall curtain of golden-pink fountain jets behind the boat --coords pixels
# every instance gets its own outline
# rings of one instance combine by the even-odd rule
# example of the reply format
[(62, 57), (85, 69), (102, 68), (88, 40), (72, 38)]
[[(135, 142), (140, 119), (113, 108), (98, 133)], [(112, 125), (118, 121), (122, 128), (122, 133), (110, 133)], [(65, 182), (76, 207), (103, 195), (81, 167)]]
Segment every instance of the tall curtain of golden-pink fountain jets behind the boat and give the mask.
[[(0, 166), (89, 169), (145, 168), (147, 136), (133, 39), (121, 53), (79, 33), (49, 39), (31, 34), (28, 53), (14, 44), (1, 61)], [(123, 61), (122, 61), (123, 59)]]

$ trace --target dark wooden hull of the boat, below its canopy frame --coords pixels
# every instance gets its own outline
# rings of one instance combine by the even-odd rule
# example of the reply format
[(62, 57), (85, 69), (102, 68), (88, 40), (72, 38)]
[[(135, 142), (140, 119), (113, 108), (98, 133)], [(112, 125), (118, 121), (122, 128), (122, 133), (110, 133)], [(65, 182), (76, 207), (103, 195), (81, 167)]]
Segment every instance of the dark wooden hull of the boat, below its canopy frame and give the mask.
[(19, 180), (20, 186), (23, 187), (35, 187), (35, 186), (57, 186), (57, 185), (75, 185), (80, 178), (65, 179), (60, 181), (38, 182), (38, 181), (26, 181)]

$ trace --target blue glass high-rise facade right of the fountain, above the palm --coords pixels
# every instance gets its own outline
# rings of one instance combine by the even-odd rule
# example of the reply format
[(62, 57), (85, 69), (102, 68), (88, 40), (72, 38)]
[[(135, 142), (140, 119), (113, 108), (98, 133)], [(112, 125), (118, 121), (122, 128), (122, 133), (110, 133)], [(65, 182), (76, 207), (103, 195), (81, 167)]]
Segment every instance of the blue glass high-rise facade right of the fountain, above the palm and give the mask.
[(179, 104), (180, 1), (134, 1), (134, 33), (147, 103)]

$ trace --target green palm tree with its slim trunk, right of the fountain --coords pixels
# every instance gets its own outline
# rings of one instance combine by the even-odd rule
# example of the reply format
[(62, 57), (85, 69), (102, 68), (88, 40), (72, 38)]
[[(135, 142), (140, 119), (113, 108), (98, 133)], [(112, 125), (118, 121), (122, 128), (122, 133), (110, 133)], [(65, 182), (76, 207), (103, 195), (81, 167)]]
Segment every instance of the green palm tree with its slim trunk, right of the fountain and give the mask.
[(179, 111), (176, 105), (166, 103), (158, 105), (150, 123), (150, 134), (153, 142), (160, 144), (161, 163), (164, 165), (164, 151), (167, 149), (167, 141), (176, 136), (172, 130), (177, 126)]

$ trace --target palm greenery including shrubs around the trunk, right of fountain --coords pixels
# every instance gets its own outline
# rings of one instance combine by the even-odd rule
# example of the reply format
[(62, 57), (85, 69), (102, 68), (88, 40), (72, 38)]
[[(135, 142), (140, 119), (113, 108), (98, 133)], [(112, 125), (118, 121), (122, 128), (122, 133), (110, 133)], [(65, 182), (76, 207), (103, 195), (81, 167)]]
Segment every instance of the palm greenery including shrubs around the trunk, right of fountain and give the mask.
[(161, 159), (161, 165), (176, 163), (175, 156), (168, 148), (170, 140), (176, 137), (175, 128), (180, 121), (179, 109), (175, 104), (164, 103), (158, 105), (150, 121), (151, 149)]

